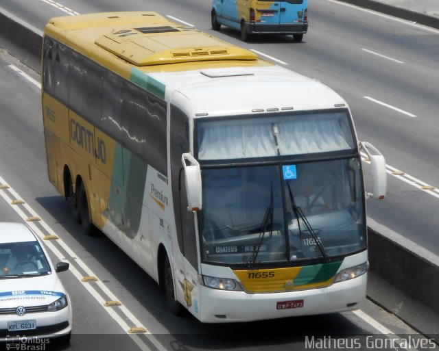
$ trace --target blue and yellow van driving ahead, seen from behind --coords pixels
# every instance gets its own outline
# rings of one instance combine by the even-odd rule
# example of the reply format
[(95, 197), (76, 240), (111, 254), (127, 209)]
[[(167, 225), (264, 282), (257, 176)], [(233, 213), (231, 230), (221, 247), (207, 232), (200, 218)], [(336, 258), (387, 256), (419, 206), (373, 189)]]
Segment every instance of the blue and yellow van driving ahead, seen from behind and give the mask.
[(307, 0), (213, 0), (212, 29), (222, 25), (252, 34), (292, 34), (300, 42), (308, 30)]

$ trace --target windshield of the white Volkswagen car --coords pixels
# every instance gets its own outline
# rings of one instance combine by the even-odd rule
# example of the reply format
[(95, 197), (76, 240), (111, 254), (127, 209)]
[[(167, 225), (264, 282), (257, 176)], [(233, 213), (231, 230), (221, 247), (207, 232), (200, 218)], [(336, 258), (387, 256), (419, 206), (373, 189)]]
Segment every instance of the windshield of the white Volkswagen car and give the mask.
[(0, 278), (50, 272), (50, 265), (37, 241), (0, 244)]

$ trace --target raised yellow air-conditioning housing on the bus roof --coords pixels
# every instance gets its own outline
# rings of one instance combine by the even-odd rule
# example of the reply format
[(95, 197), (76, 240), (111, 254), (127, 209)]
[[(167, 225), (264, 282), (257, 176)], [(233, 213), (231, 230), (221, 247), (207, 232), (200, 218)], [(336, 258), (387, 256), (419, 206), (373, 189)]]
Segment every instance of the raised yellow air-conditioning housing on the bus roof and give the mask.
[(257, 60), (236, 47), (197, 29), (179, 26), (121, 28), (95, 43), (136, 66), (210, 60)]

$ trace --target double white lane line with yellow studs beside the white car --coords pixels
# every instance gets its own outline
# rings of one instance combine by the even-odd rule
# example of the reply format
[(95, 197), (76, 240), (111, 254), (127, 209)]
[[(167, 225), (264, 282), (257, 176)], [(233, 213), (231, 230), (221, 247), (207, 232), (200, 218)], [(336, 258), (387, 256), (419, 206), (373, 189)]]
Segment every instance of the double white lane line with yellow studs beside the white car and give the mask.
[[(6, 183), (6, 181), (1, 176), (0, 176), (0, 183), (1, 183), (1, 185), (8, 185), (8, 183)], [(8, 194), (6, 194), (6, 192), (9, 192), (13, 196), (13, 198), (8, 196)], [(0, 196), (3, 197), (3, 199), (12, 207), (12, 209), (14, 209), (14, 211), (16, 211), (16, 213), (21, 218), (23, 218), (23, 220), (25, 222), (27, 222), (27, 224), (30, 227), (32, 227), (32, 229), (38, 234), (40, 239), (43, 240), (44, 244), (46, 244), (47, 248), (51, 252), (53, 252), (54, 255), (58, 259), (60, 259), (60, 260), (66, 259), (64, 257), (64, 255), (62, 254), (62, 252), (60, 252), (60, 250), (58, 250), (58, 248), (56, 248), (56, 246), (54, 246), (54, 244), (50, 240), (44, 240), (45, 233), (43, 233), (43, 231), (40, 231), (40, 229), (36, 225), (37, 222), (28, 222), (27, 221), (28, 215), (22, 211), (20, 206), (23, 206), (29, 213), (32, 214), (32, 216), (41, 218), (40, 216), (38, 216), (38, 213), (36, 213), (36, 211), (34, 211), (32, 209), (32, 207), (30, 207), (27, 204), (27, 202), (25, 202), (22, 205), (12, 205), (13, 200), (19, 200), (19, 199), (23, 200), (23, 198), (21, 198), (21, 196), (19, 196), (19, 194), (17, 194), (15, 192), (15, 190), (10, 185), (8, 185), (8, 187), (5, 189), (0, 189)], [(45, 231), (47, 231), (47, 234), (54, 233), (54, 231), (50, 228), (50, 226), (44, 220), (42, 220), (42, 219), (39, 220), (38, 224), (43, 226)], [(58, 237), (59, 237), (59, 235), (58, 235)], [(117, 322), (117, 324), (119, 324), (119, 326), (121, 326), (124, 333), (132, 336), (133, 341), (135, 343), (137, 343), (137, 345), (139, 346), (139, 348), (141, 348), (141, 350), (145, 350), (145, 351), (151, 350), (150, 348), (148, 348), (145, 345), (145, 343), (143, 343), (143, 341), (141, 341), (139, 335), (128, 333), (128, 330), (131, 328), (131, 326), (129, 326), (127, 324), (126, 320), (124, 320), (121, 316), (119, 316), (117, 314), (115, 309), (112, 309), (111, 307), (104, 307), (103, 302), (105, 301), (106, 298), (104, 296), (101, 296), (99, 294), (99, 292), (95, 289), (95, 287), (93, 287), (93, 285), (82, 281), (82, 278), (84, 278), (84, 277), (80, 274), (80, 272), (78, 272), (78, 270), (75, 269), (75, 265), (78, 265), (82, 270), (84, 270), (84, 272), (86, 272), (88, 274), (88, 276), (96, 276), (97, 277), (97, 275), (90, 268), (88, 268), (88, 266), (84, 263), (84, 261), (82, 261), (82, 259), (80, 259), (80, 257), (78, 255), (76, 255), (75, 252), (73, 252), (73, 250), (71, 250), (71, 248), (69, 248), (69, 246), (67, 246), (67, 244), (65, 244), (61, 238), (56, 239), (56, 242), (61, 246), (61, 248), (63, 250), (65, 250), (67, 252), (67, 254), (70, 257), (74, 258), (75, 263), (71, 263), (69, 270), (72, 272), (72, 274), (75, 276), (75, 278), (78, 279), (80, 284), (91, 294), (91, 296), (93, 296), (93, 298), (95, 298), (95, 300), (97, 300), (99, 305), (112, 317), (112, 319), (115, 320)], [(93, 283), (98, 285), (99, 288), (102, 289), (102, 291), (108, 296), (108, 298), (110, 298), (110, 300), (120, 301), (119, 298), (117, 298), (117, 296), (115, 296), (115, 294), (113, 294), (112, 291), (110, 291), (110, 289), (108, 289), (108, 287), (106, 287), (106, 285), (104, 285), (104, 283), (102, 283), (102, 281), (99, 278), (98, 278), (98, 281), (95, 281)], [(121, 309), (123, 314), (126, 317), (128, 317), (128, 319), (134, 324), (134, 326), (142, 326), (141, 322), (137, 319), (137, 317), (135, 317), (128, 310), (127, 307), (125, 307), (122, 304), (122, 305), (118, 306), (118, 308)], [(146, 332), (141, 334), (141, 335), (146, 334), (147, 339), (149, 339), (158, 350), (165, 351), (166, 349), (163, 347), (163, 345), (161, 345), (161, 343), (159, 343), (158, 340), (156, 340), (156, 338), (146, 328), (145, 328), (145, 330), (146, 330)]]

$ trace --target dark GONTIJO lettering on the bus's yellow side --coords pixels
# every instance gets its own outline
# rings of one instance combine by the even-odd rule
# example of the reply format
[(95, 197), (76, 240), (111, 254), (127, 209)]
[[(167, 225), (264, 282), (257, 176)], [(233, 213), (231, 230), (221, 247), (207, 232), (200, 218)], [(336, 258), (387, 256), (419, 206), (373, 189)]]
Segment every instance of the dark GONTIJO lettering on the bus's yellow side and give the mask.
[(106, 164), (107, 155), (104, 140), (97, 138), (95, 148), (95, 135), (93, 131), (87, 129), (73, 118), (70, 118), (70, 137), (72, 142), (76, 142), (85, 151), (88, 151), (90, 155)]

